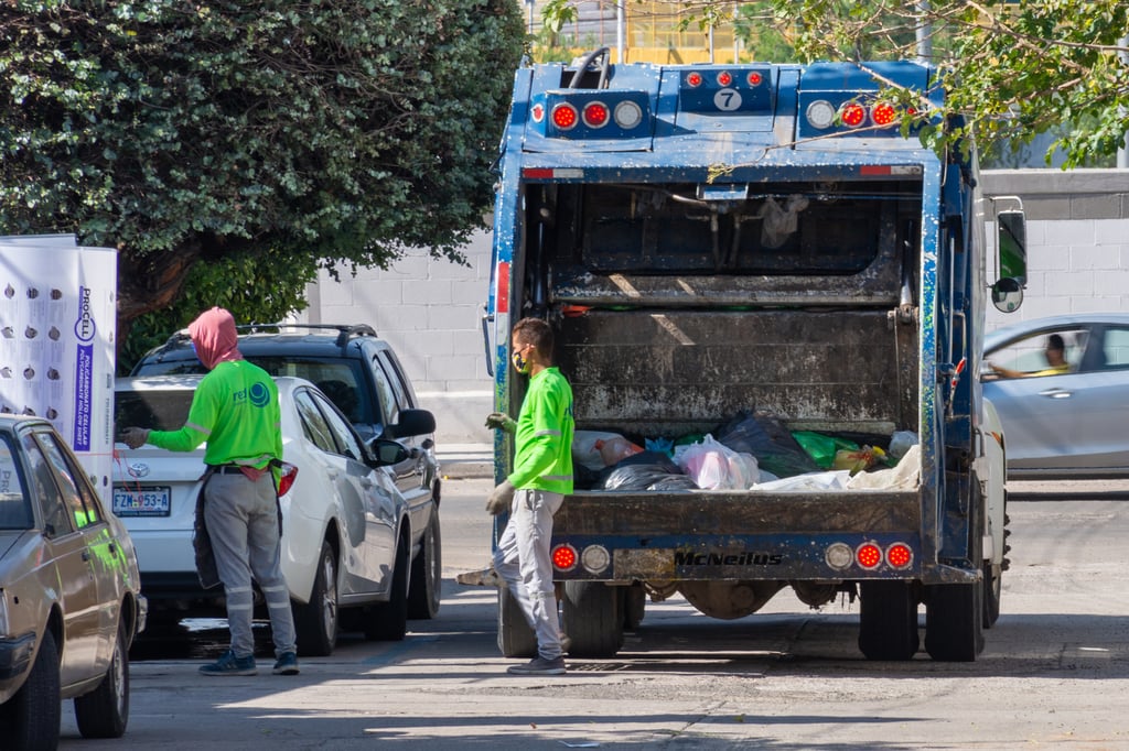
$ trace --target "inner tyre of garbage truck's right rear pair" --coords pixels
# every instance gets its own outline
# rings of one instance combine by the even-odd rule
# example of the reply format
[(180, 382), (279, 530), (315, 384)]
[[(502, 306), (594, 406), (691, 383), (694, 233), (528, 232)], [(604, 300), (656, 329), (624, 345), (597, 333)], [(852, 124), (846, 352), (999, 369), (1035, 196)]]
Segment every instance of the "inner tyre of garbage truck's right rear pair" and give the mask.
[(859, 584), (858, 648), (867, 660), (911, 660), (920, 645), (910, 582)]

